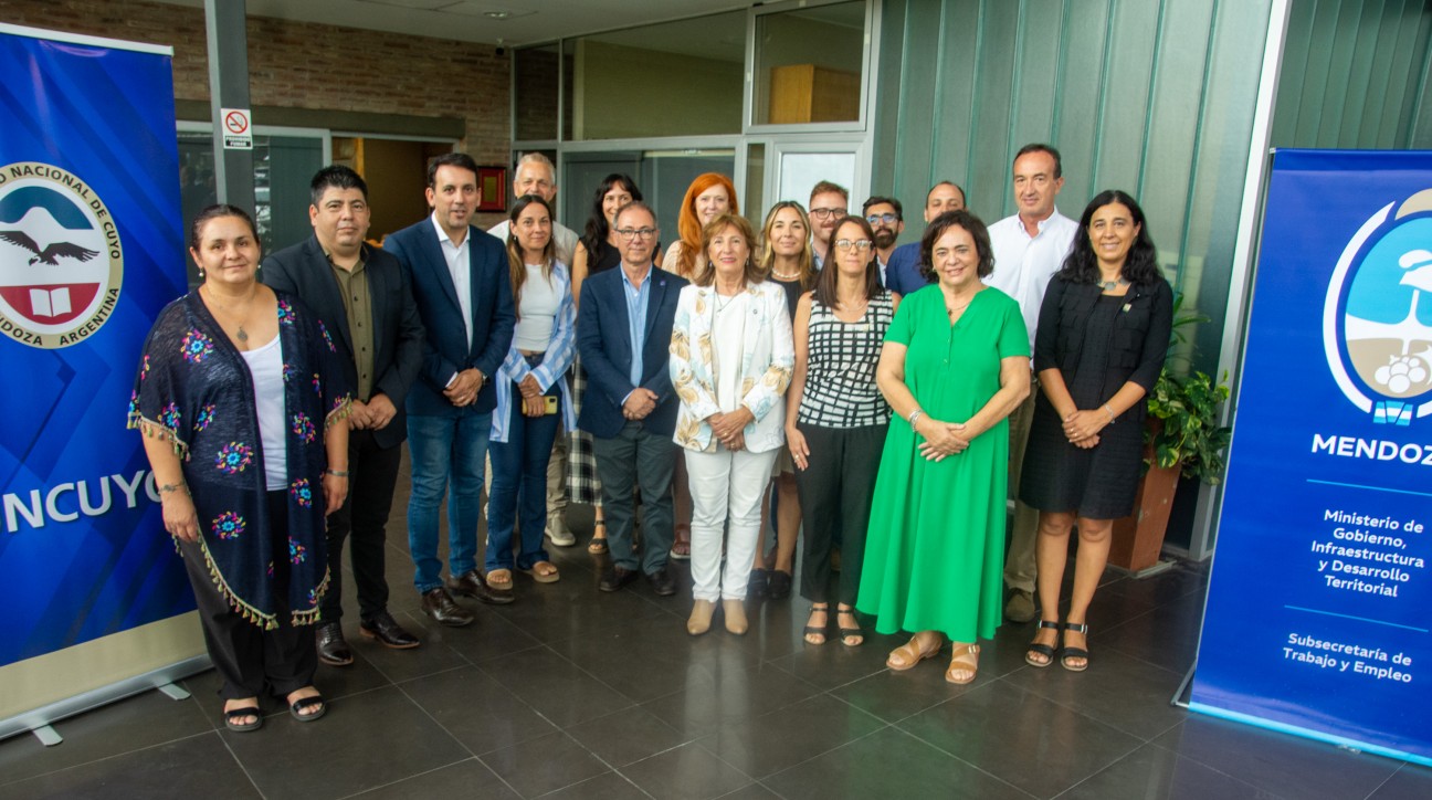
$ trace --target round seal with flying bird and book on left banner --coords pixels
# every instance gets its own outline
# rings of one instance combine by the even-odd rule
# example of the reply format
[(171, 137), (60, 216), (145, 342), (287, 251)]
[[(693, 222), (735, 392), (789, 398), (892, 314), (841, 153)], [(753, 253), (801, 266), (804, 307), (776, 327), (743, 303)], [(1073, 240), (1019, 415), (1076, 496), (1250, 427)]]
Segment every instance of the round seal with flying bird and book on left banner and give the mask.
[(67, 348), (119, 302), (125, 250), (105, 200), (57, 166), (0, 167), (0, 333)]

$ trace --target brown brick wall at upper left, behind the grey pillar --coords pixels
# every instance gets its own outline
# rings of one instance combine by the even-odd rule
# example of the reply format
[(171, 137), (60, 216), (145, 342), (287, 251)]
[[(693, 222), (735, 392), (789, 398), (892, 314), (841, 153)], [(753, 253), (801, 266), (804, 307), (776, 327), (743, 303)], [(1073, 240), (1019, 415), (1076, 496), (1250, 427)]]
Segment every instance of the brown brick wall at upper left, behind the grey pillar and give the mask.
[[(203, 10), (139, 0), (0, 0), (0, 21), (173, 47), (175, 97), (209, 100)], [(249, 17), (253, 106), (461, 119), (460, 149), (503, 165), (508, 59), (490, 44)], [(255, 123), (263, 125), (262, 119)]]

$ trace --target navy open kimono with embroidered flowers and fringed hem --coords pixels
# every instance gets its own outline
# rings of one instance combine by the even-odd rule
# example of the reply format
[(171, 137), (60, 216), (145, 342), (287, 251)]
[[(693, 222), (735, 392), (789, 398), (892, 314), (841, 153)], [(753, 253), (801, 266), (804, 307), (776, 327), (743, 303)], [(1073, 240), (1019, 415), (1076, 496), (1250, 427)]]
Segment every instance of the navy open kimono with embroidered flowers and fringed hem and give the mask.
[(173, 445), (199, 518), (199, 547), (235, 613), (276, 628), (274, 560), (291, 564), (292, 624), (318, 620), (328, 587), (324, 431), (348, 414), (349, 386), (324, 323), (278, 293), (288, 451), (288, 551), (272, 552), (253, 382), (198, 292), (169, 303), (145, 341), (129, 426)]

